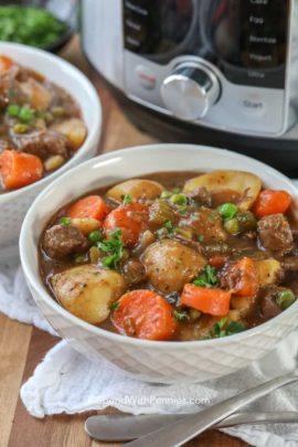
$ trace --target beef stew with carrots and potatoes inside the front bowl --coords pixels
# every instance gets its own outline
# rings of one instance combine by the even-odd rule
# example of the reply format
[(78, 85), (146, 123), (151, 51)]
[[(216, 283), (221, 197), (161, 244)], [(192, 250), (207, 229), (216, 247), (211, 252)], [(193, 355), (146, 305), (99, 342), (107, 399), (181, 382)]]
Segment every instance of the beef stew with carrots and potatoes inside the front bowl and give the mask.
[(291, 201), (248, 172), (128, 180), (53, 216), (40, 241), (41, 276), (66, 310), (124, 336), (238, 333), (297, 299)]

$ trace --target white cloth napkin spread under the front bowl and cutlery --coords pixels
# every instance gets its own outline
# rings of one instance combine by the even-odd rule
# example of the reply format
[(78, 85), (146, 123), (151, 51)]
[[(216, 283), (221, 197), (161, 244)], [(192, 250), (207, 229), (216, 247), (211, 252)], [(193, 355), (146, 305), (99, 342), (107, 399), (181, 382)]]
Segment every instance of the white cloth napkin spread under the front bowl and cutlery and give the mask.
[[(0, 311), (54, 333), (35, 307), (21, 269), (0, 269)], [(294, 369), (297, 353), (298, 331), (289, 334), (278, 350), (240, 373), (204, 384), (161, 386), (132, 380), (107, 361), (93, 363), (61, 341), (22, 386), (21, 397), (35, 417), (108, 406), (132, 414), (191, 413)], [(298, 387), (288, 385), (246, 409), (297, 411)], [(240, 426), (224, 432), (257, 447), (298, 446), (295, 425)]]

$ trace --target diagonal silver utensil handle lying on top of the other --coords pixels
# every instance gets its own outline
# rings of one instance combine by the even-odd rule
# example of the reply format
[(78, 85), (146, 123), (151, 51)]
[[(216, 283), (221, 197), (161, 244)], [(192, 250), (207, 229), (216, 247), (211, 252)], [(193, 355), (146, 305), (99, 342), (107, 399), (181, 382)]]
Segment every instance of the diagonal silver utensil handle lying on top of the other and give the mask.
[(126, 444), (128, 447), (180, 447), (211, 428), (225, 417), (237, 412), (242, 406), (251, 404), (259, 397), (298, 380), (298, 371), (267, 381), (251, 390), (230, 397), (200, 413), (185, 416), (183, 419), (168, 424), (149, 435)]

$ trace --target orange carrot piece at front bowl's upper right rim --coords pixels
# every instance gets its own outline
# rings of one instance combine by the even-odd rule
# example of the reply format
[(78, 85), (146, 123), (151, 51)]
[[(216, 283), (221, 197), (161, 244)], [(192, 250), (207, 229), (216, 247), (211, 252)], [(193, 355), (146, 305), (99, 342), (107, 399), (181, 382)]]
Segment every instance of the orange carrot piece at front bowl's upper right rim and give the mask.
[(253, 212), (257, 217), (285, 213), (291, 204), (291, 196), (287, 191), (264, 190), (259, 193)]

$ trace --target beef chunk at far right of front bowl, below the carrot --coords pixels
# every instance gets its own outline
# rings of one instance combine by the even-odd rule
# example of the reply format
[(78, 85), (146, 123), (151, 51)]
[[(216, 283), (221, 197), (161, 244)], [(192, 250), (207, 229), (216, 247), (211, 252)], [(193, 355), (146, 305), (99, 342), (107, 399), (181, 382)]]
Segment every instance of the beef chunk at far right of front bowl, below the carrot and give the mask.
[(260, 219), (257, 232), (259, 242), (266, 249), (285, 254), (294, 247), (290, 226), (284, 214), (272, 214)]

